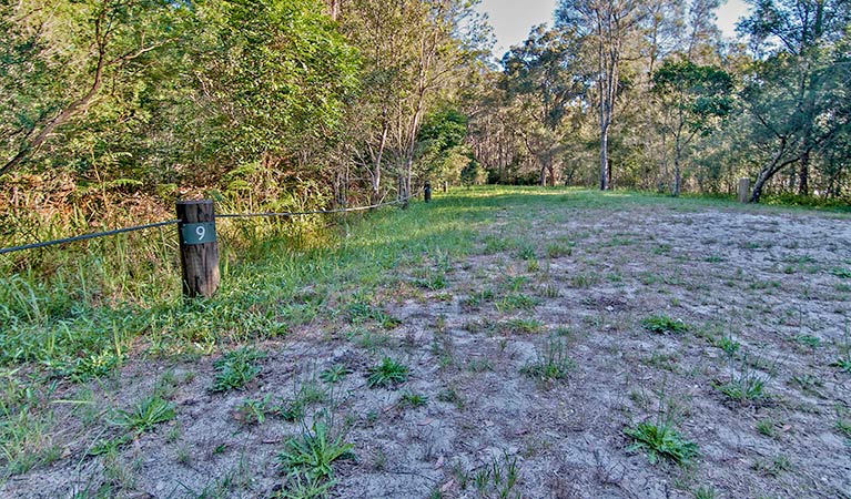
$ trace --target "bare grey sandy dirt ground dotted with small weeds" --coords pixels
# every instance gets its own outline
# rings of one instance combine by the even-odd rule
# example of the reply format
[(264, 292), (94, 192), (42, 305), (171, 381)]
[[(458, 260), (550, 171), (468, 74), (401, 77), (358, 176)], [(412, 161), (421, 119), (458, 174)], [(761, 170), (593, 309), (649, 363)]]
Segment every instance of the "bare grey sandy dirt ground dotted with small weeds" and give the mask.
[[(839, 427), (851, 374), (833, 365), (851, 343), (847, 217), (566, 195), (496, 200), (470, 223), (466, 255), (438, 247), (387, 271), (373, 305), (397, 322), (352, 320), (336, 307), (345, 296), (325, 297), (321, 318), (257, 345), (267, 356), (245, 390), (209, 390), (216, 357), (132, 360), (84, 387), (97, 416), (168, 375), (176, 418), (109, 458), (88, 457), (99, 436), (83, 432), (0, 496), (94, 497), (110, 482), (132, 498), (272, 497), (284, 442), (323, 417), (354, 445), (335, 461), (338, 498), (851, 498)], [(644, 327), (660, 315), (688, 330)], [(553, 345), (567, 376), (530, 376)], [(385, 356), (409, 379), (367, 387)], [(335, 364), (352, 374), (317, 380)], [(719, 389), (743, 376), (763, 380), (764, 396)], [(291, 398), (305, 384), (325, 397), (303, 422), (240, 416), (246, 398)], [(630, 448), (625, 429), (663, 417), (699, 446), (691, 465)]]

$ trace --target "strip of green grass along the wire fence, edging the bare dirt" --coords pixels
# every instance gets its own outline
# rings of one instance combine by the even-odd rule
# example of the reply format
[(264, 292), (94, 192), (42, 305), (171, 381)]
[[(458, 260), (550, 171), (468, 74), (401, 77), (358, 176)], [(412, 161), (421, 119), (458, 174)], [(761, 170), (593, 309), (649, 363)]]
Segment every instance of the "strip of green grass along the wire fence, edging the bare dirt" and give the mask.
[[(328, 299), (369, 297), (398, 278), (389, 271), (415, 258), (464, 253), (475, 244), (476, 224), (508, 206), (529, 218), (558, 218), (568, 210), (688, 210), (708, 203), (719, 202), (486, 186), (412, 203), (409, 210), (220, 220), (222, 288), (196, 302), (181, 298), (175, 227), (0, 255), (0, 366), (38, 363), (51, 376), (85, 378), (120, 365), (140, 337), (149, 353), (169, 355), (285, 335), (324, 309), (346, 305)], [(216, 210), (311, 207), (297, 197), (263, 208), (220, 198)]]

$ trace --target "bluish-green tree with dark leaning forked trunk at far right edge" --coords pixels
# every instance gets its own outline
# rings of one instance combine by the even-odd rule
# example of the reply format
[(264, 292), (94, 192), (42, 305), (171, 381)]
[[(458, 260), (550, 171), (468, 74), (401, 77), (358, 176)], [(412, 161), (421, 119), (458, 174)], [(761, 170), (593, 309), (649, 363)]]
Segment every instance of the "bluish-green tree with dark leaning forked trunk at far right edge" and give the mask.
[(849, 37), (848, 0), (759, 0), (739, 26), (756, 61), (743, 92), (752, 138), (764, 160), (751, 201), (767, 182), (797, 166), (798, 193), (810, 193), (813, 161), (849, 126), (851, 81), (839, 49)]

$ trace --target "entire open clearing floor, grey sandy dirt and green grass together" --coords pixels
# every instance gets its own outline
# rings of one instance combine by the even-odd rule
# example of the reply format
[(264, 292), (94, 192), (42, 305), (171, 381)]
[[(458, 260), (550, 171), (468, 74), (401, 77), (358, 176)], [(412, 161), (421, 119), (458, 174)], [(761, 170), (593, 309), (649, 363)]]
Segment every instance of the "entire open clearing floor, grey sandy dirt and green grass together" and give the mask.
[(349, 222), (225, 252), (210, 301), (3, 277), (0, 496), (851, 497), (848, 216), (494, 187)]

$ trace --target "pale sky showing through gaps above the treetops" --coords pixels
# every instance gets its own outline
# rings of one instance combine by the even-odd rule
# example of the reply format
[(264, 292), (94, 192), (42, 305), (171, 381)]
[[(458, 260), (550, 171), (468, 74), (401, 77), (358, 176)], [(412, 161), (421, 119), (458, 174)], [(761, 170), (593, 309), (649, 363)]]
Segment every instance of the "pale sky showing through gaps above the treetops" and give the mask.
[[(496, 34), (494, 55), (500, 58), (509, 47), (526, 40), (533, 26), (545, 22), (553, 26), (556, 3), (557, 0), (482, 0), (478, 10), (488, 14)], [(727, 0), (718, 9), (718, 27), (726, 37), (736, 37), (736, 22), (747, 11), (742, 0)]]

